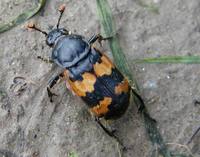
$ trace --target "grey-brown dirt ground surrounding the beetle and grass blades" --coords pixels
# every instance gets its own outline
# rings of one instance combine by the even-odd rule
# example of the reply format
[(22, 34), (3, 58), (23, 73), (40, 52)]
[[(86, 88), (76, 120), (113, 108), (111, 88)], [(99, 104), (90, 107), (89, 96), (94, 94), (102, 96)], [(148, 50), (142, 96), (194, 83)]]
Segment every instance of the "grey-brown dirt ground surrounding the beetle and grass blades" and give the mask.
[[(138, 0), (139, 1), (139, 0)], [(172, 150), (185, 147), (200, 126), (200, 65), (134, 66), (132, 59), (164, 55), (199, 55), (200, 1), (154, 0), (159, 14), (145, 9), (137, 0), (110, 0), (121, 46), (137, 76), (142, 96), (161, 134)], [(94, 0), (48, 1), (32, 18), (43, 30), (50, 30), (58, 18), (57, 8), (67, 5), (61, 25), (74, 33), (90, 37), (100, 32)], [(0, 22), (8, 21), (33, 1), (1, 0)], [(107, 43), (102, 50), (109, 51)], [(61, 69), (37, 56), (48, 57), (51, 50), (45, 37), (28, 32), (20, 25), (0, 35), (0, 157), (118, 157), (115, 140), (93, 121), (84, 103), (58, 85), (57, 97), (50, 103), (46, 85)], [(109, 53), (110, 54), (110, 53)], [(15, 77), (23, 76), (25, 78)], [(125, 157), (149, 157), (155, 147), (145, 134), (142, 117), (131, 104), (127, 113), (111, 124), (128, 150)], [(200, 134), (188, 145), (200, 156)]]

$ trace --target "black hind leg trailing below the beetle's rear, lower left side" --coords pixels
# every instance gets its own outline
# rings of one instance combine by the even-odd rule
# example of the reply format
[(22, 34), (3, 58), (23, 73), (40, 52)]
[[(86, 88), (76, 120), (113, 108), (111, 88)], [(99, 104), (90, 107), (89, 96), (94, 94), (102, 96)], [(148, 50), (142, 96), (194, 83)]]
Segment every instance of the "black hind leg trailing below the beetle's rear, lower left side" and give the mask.
[(95, 117), (95, 121), (98, 123), (98, 125), (105, 131), (106, 134), (108, 134), (110, 137), (113, 137), (117, 140), (117, 142), (123, 147), (123, 150), (126, 150), (126, 147), (123, 145), (123, 143), (119, 140), (119, 138), (114, 134), (114, 131), (108, 130), (100, 121), (98, 117)]

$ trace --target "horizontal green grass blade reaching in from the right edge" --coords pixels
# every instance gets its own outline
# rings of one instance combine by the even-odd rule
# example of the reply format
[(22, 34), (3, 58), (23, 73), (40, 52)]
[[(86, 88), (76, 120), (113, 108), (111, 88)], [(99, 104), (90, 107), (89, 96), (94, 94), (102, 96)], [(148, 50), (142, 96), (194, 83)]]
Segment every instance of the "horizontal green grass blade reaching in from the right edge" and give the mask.
[(199, 64), (200, 56), (165, 56), (158, 58), (135, 59), (135, 63), (186, 63)]

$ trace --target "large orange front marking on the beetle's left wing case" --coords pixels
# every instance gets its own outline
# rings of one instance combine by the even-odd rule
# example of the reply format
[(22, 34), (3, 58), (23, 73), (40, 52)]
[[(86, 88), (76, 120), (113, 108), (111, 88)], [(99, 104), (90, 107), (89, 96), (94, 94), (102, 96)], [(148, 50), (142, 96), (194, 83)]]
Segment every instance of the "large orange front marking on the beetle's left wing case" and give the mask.
[(96, 82), (96, 77), (89, 73), (85, 72), (83, 75), (82, 81), (71, 81), (68, 80), (71, 89), (76, 93), (78, 96), (86, 96), (86, 92), (93, 92), (94, 91), (94, 84)]

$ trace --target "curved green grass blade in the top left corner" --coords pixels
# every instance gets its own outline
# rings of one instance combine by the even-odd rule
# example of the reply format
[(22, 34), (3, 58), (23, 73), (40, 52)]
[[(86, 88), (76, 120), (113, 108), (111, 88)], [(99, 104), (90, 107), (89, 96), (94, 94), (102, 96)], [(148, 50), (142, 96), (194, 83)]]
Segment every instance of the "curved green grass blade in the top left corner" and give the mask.
[(46, 0), (39, 0), (38, 4), (35, 8), (29, 9), (25, 11), (24, 13), (18, 15), (15, 19), (12, 21), (6, 23), (6, 24), (0, 24), (0, 33), (3, 33), (5, 31), (10, 30), (11, 28), (25, 22), (26, 20), (33, 17), (35, 14), (37, 14), (42, 7), (44, 7)]

